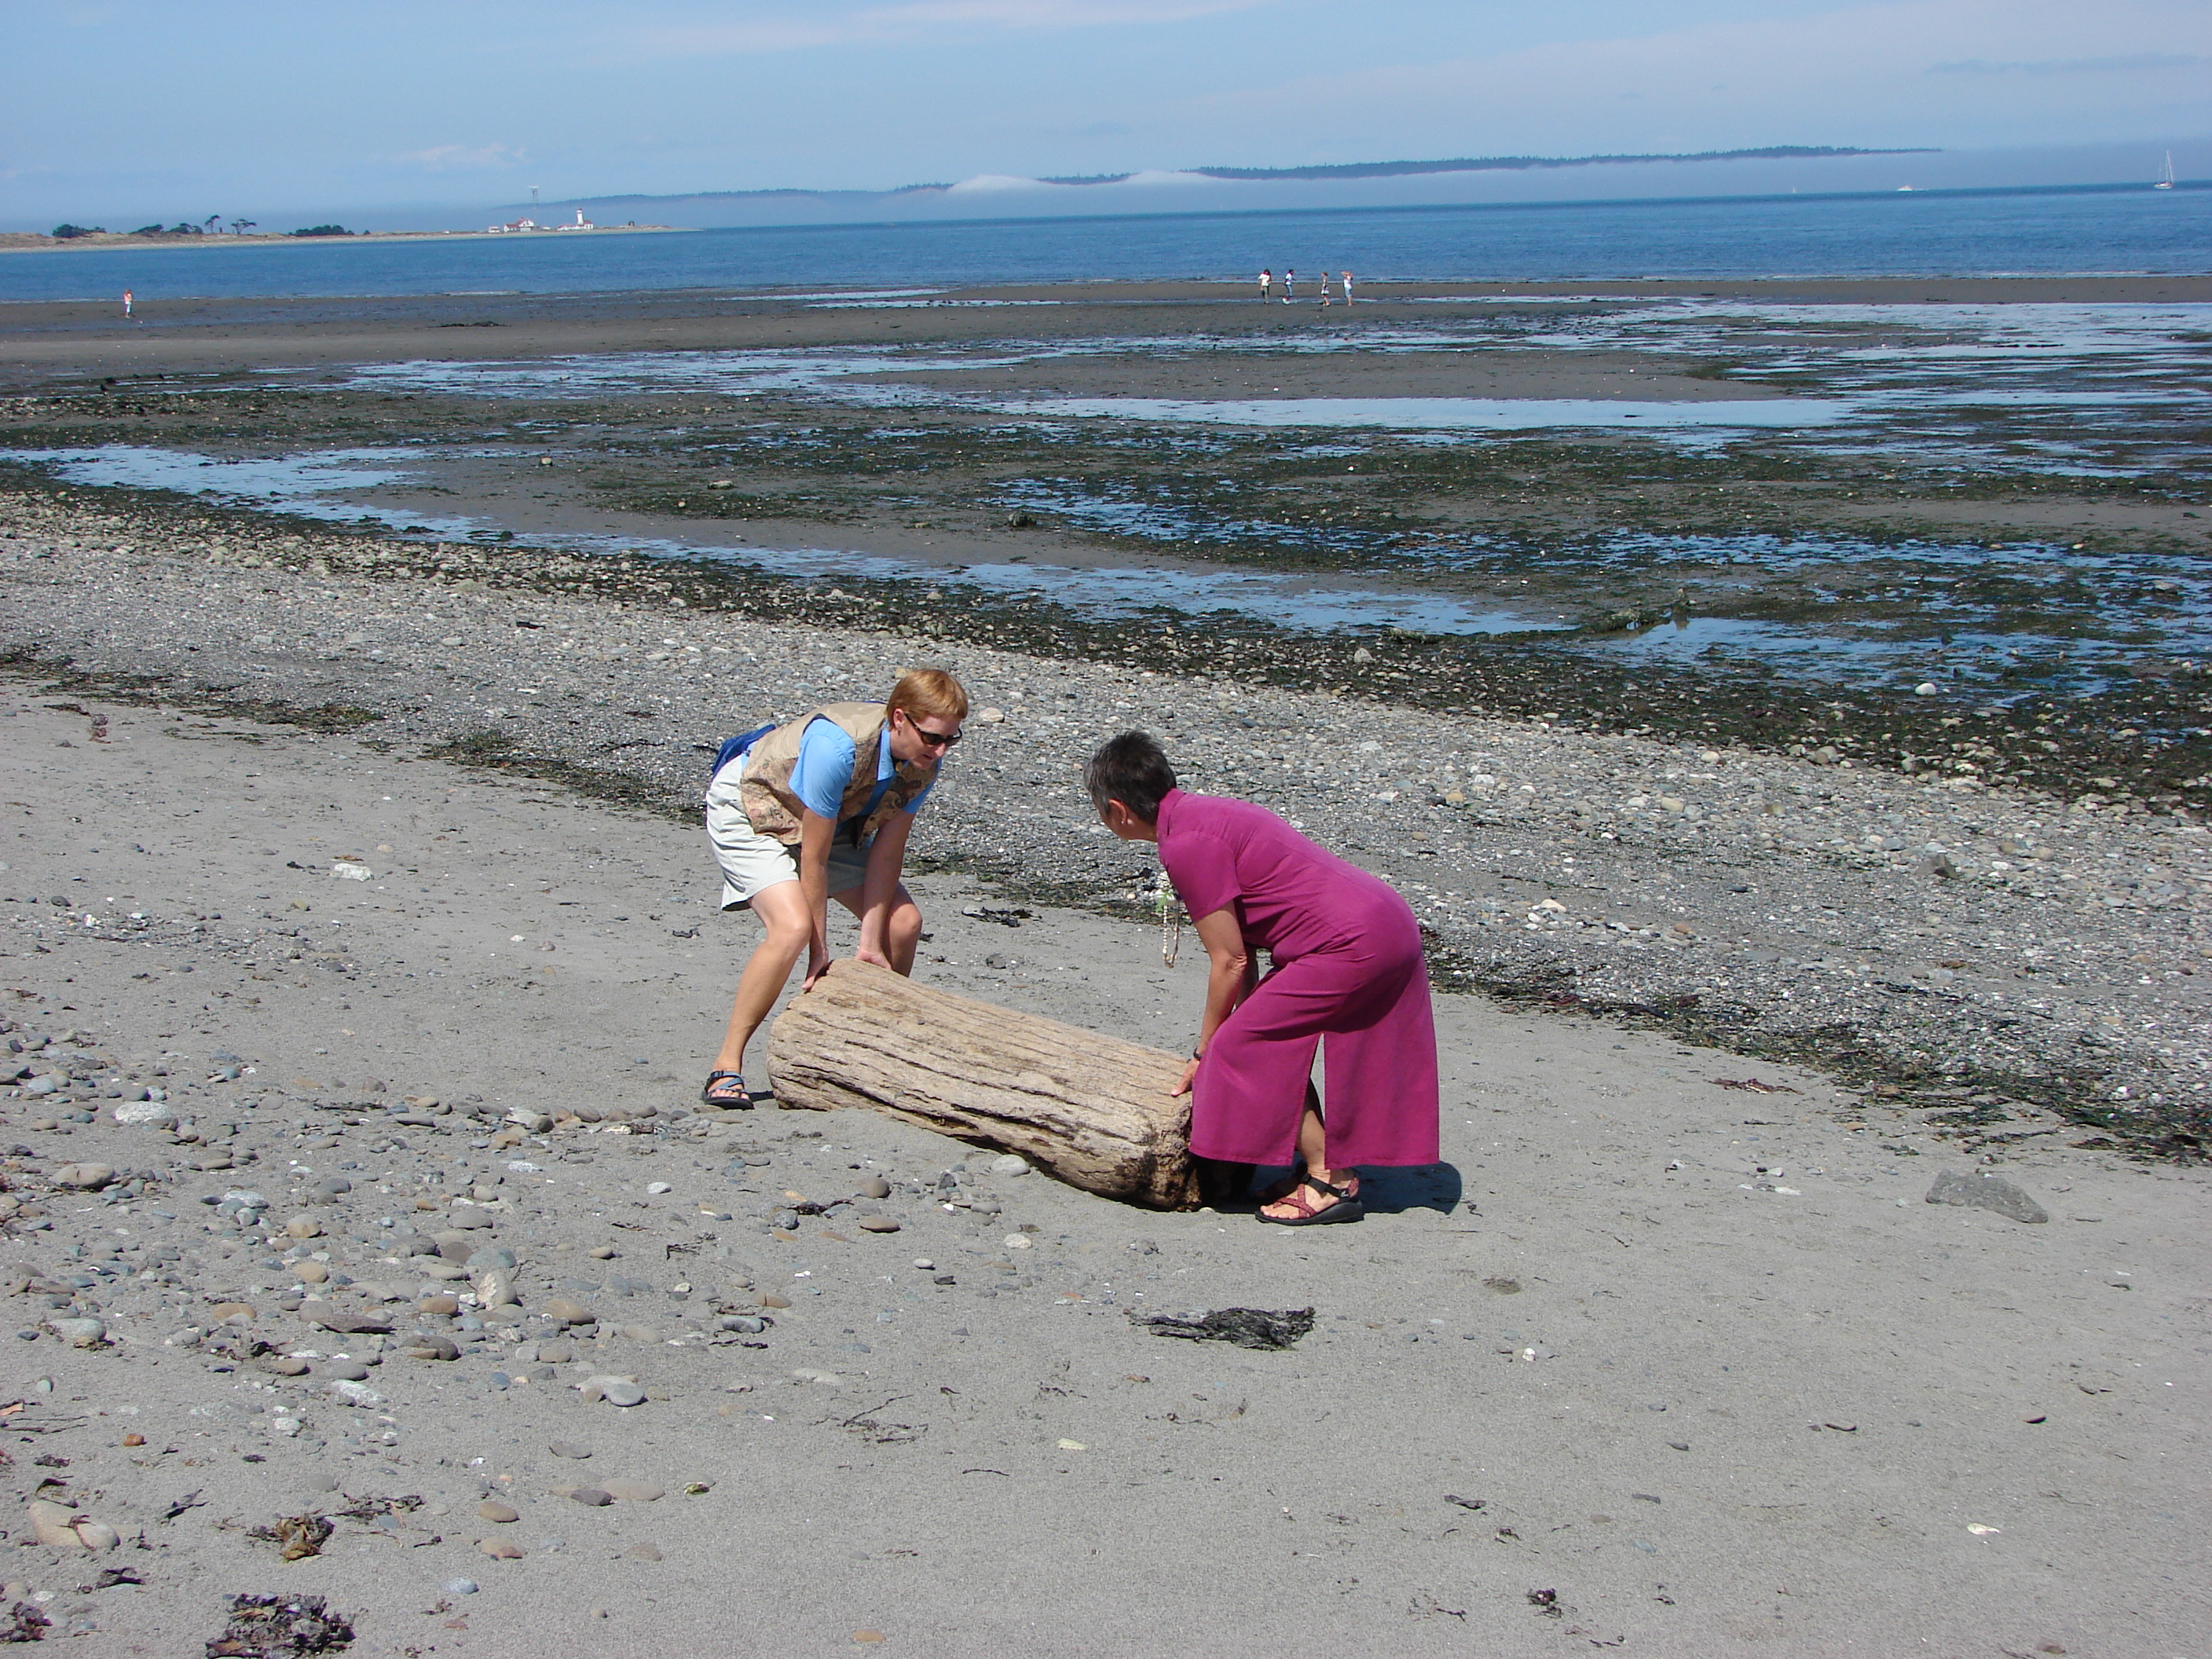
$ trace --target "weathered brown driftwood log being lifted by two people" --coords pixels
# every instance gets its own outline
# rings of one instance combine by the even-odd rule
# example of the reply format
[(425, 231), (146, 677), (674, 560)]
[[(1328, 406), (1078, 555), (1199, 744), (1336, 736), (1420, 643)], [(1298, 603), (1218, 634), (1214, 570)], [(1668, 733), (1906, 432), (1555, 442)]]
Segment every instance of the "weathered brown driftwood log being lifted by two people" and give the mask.
[(1190, 1097), (1168, 1095), (1183, 1062), (1159, 1048), (841, 960), (776, 1020), (768, 1066), (779, 1106), (872, 1106), (1106, 1199), (1199, 1201)]

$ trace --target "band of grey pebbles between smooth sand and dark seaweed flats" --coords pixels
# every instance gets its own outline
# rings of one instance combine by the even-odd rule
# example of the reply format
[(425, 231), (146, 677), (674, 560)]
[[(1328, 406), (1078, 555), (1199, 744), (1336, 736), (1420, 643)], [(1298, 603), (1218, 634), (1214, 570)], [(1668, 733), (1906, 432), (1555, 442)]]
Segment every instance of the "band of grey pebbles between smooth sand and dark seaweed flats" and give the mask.
[(940, 661), (989, 714), (916, 854), (1011, 898), (1139, 914), (1150, 865), (1095, 832), (1075, 768), (1146, 726), (1194, 787), (1398, 883), (1447, 989), (1807, 1060), (1969, 1146), (2066, 1124), (2188, 1157), (2205, 1133), (2205, 827), (2090, 779), (2051, 796), (1438, 714), (1380, 686), (1294, 692), (1234, 659), (1135, 666), (1159, 641), (1053, 661), (911, 584), (712, 584), (75, 495), (0, 502), (0, 637), (55, 686), (305, 719), (688, 816), (728, 730)]

